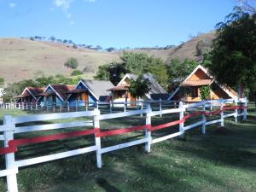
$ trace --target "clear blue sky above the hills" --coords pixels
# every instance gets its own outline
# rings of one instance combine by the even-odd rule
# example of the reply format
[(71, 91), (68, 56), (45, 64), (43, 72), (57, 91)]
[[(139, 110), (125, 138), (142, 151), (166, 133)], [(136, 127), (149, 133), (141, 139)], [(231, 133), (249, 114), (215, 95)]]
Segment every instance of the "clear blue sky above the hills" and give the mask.
[(103, 48), (180, 44), (209, 32), (236, 0), (0, 0), (0, 37), (54, 35)]

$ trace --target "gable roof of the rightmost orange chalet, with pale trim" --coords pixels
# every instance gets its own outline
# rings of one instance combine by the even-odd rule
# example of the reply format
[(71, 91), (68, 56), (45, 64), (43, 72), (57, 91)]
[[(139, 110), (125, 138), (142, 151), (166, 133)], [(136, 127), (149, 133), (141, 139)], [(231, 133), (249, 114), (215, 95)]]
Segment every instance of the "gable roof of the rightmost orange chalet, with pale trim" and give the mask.
[[(194, 75), (199, 69), (201, 69), (202, 72), (206, 73), (207, 76), (209, 77), (209, 79), (190, 80), (192, 75)], [(212, 75), (208, 72), (207, 68), (202, 67), (201, 65), (198, 65), (197, 67), (195, 67), (193, 72), (190, 73), (189, 76), (183, 81), (183, 83), (181, 85), (179, 85), (176, 90), (174, 90), (172, 95), (169, 97), (169, 100), (171, 100), (172, 97), (177, 94), (177, 92), (178, 92), (178, 90), (180, 90), (181, 86), (203, 86), (203, 85), (212, 84), (214, 81), (215, 81), (215, 79), (213, 79)], [(215, 83), (218, 84), (218, 82), (216, 82), (216, 81), (215, 81)], [(218, 84), (218, 85), (231, 98), (234, 98), (235, 96), (237, 96), (237, 93), (235, 90), (232, 90), (231, 88), (225, 88), (224, 86), (222, 86), (220, 84)]]

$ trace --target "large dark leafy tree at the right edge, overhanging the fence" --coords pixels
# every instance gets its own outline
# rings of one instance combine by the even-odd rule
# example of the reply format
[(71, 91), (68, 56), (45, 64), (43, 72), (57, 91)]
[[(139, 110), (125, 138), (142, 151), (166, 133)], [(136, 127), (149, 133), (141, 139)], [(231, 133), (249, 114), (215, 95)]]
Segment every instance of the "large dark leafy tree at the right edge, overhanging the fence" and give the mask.
[(236, 8), (216, 28), (210, 73), (224, 86), (243, 85), (253, 93), (256, 105), (256, 14)]

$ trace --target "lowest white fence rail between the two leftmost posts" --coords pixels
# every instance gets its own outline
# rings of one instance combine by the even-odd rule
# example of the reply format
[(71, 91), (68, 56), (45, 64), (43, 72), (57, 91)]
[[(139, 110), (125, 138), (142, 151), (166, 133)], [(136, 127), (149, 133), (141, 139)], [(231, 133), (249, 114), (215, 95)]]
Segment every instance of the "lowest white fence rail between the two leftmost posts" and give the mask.
[(75, 156), (78, 154), (86, 154), (86, 153), (90, 153), (92, 151), (96, 151), (95, 145), (87, 147), (87, 148), (74, 149), (71, 151), (62, 152), (62, 153), (58, 153), (58, 154), (49, 154), (49, 155), (44, 155), (41, 157), (35, 157), (35, 158), (28, 159), (28, 160), (18, 160), (18, 161), (16, 161), (16, 166), (18, 166), (18, 167), (31, 166), (31, 165), (35, 165), (38, 163), (48, 162), (51, 160), (60, 160), (60, 159)]

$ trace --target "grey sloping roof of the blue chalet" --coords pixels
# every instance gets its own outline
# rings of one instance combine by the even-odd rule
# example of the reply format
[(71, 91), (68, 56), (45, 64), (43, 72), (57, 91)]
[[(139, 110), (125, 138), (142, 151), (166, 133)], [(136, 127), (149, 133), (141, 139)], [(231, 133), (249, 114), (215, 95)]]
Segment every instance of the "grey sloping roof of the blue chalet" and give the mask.
[(110, 92), (108, 90), (113, 87), (113, 84), (110, 81), (82, 79), (81, 82), (87, 87), (93, 96), (96, 96), (97, 100), (102, 96), (109, 96)]

